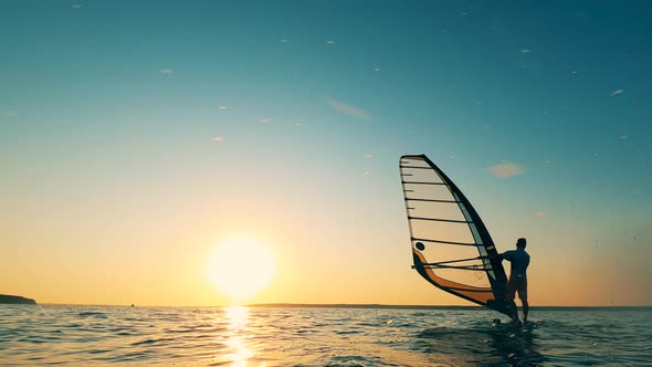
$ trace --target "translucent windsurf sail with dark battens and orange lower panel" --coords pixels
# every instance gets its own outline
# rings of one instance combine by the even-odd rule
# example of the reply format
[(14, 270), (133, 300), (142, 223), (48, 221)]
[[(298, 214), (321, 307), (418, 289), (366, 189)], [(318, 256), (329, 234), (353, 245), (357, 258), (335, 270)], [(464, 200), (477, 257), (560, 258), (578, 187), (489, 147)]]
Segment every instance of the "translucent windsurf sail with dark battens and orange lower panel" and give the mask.
[(413, 269), (437, 287), (507, 316), (507, 277), (471, 202), (425, 155), (402, 156)]

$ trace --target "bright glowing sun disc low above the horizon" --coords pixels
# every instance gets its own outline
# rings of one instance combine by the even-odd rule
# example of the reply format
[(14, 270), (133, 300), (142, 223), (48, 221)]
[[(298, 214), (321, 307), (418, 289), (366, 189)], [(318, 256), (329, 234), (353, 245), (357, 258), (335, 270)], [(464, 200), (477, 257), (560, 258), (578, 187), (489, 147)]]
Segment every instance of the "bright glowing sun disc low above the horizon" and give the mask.
[(231, 301), (243, 302), (265, 289), (274, 277), (272, 252), (254, 239), (231, 239), (214, 249), (208, 277)]

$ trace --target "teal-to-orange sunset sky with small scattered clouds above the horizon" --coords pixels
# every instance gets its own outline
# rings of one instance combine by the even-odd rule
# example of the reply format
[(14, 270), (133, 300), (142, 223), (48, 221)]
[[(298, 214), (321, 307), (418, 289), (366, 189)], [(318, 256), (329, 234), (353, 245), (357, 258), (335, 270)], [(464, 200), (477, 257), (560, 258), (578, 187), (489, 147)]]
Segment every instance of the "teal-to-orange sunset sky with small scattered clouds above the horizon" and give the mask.
[[(412, 262), (427, 154), (530, 305), (652, 305), (652, 8), (633, 1), (0, 0), (0, 293), (225, 305), (469, 304)], [(241, 268), (255, 274), (242, 259)]]

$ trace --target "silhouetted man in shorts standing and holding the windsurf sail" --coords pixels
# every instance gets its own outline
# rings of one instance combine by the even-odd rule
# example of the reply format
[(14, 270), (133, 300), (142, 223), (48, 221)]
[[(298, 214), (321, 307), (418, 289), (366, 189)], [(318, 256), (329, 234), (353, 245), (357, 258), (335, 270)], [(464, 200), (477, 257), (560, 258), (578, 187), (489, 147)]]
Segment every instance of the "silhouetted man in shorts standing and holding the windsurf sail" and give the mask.
[(516, 292), (518, 292), (518, 298), (523, 303), (523, 323), (527, 323), (527, 313), (529, 311), (529, 304), (527, 303), (527, 266), (529, 265), (529, 254), (525, 252), (527, 241), (525, 239), (518, 239), (516, 241), (516, 250), (505, 251), (498, 254), (503, 260), (507, 260), (512, 263), (512, 272), (509, 274), (509, 281), (507, 281), (507, 303), (512, 308), (512, 321), (515, 325), (518, 325), (518, 308), (514, 302)]

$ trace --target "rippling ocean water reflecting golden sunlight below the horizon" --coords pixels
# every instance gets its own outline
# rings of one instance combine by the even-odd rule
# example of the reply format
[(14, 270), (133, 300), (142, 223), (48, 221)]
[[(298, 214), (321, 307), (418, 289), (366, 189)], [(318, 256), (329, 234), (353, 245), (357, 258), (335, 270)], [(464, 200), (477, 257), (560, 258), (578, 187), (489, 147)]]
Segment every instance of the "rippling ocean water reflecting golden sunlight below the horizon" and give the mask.
[[(652, 308), (0, 305), (0, 366), (652, 366)], [(501, 317), (507, 322), (506, 317)]]

